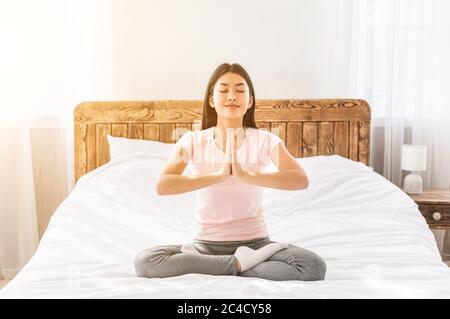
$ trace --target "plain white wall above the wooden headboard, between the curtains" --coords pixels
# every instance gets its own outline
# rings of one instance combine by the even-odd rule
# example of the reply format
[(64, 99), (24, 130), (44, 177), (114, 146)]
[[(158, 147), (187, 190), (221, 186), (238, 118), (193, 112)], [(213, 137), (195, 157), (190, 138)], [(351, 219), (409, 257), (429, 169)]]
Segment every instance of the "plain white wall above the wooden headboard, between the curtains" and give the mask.
[(111, 93), (203, 98), (215, 67), (239, 62), (259, 98), (341, 96), (336, 12), (339, 1), (113, 1)]

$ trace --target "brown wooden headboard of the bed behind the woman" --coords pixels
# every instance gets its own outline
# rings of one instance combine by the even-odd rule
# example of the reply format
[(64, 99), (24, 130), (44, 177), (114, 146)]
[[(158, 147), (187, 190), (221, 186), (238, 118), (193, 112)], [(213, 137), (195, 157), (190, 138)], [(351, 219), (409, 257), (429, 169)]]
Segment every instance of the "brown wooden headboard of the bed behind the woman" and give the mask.
[[(84, 102), (74, 110), (75, 180), (109, 161), (106, 135), (175, 143), (201, 130), (202, 100)], [(360, 99), (257, 100), (258, 128), (295, 157), (338, 154), (369, 163), (370, 106)], [(178, 129), (178, 130), (177, 130)]]

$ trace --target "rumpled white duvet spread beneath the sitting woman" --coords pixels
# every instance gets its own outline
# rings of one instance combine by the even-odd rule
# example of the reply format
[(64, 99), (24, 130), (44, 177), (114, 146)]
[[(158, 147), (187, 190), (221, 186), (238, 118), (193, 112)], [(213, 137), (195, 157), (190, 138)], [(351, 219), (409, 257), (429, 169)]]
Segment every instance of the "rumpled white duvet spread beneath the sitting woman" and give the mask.
[(136, 254), (189, 242), (195, 216), (195, 193), (158, 196), (155, 183), (165, 160), (140, 155), (79, 180), (36, 254), (0, 298), (450, 298), (450, 268), (406, 194), (337, 155), (297, 160), (310, 186), (265, 188), (266, 223), (272, 240), (322, 256), (324, 281), (136, 277)]

